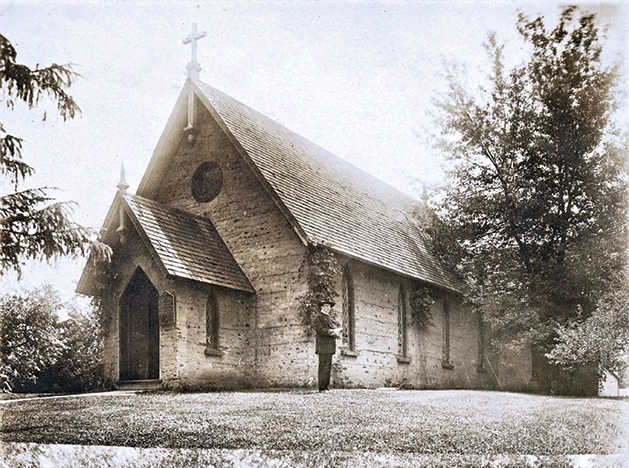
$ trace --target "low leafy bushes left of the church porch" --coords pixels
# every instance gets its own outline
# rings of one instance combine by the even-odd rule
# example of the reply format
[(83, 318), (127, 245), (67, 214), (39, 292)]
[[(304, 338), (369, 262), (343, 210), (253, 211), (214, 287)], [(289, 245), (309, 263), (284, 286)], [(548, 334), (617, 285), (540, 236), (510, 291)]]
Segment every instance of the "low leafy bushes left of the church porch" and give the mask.
[(19, 392), (78, 392), (105, 386), (103, 335), (94, 309), (66, 310), (44, 286), (0, 296), (0, 384)]

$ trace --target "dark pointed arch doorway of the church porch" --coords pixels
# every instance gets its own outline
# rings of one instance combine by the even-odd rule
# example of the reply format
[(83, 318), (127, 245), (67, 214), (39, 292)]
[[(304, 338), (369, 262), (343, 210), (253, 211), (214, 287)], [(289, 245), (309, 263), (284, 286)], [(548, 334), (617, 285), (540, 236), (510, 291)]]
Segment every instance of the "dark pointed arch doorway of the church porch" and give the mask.
[(120, 380), (159, 379), (159, 294), (137, 268), (120, 297)]

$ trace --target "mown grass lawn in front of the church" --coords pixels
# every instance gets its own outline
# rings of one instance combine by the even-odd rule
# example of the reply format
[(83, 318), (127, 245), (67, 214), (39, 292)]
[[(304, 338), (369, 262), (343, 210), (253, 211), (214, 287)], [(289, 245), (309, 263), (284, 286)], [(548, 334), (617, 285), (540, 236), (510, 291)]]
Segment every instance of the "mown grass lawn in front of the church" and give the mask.
[(499, 392), (149, 393), (7, 402), (0, 440), (421, 454), (609, 454), (626, 401)]

